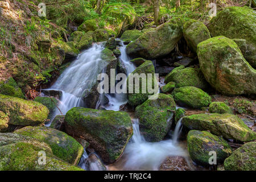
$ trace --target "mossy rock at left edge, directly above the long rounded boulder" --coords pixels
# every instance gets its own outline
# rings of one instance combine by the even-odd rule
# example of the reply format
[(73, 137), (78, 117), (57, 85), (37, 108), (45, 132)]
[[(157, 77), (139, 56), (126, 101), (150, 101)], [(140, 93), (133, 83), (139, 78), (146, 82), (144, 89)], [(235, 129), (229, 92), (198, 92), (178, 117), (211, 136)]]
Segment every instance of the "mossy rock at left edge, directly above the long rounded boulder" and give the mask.
[(10, 77), (8, 80), (0, 81), (0, 94), (4, 94), (7, 96), (25, 98), (22, 90), (16, 84), (15, 80)]

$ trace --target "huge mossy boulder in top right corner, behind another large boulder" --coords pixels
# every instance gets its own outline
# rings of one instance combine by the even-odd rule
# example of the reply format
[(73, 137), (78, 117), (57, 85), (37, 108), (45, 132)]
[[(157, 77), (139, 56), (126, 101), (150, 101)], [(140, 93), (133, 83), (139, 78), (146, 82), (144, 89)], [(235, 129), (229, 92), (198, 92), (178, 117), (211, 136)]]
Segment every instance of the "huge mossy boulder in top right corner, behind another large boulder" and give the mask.
[(210, 20), (208, 28), (213, 36), (246, 39), (248, 49), (246, 60), (256, 68), (256, 14), (253, 9), (227, 7)]

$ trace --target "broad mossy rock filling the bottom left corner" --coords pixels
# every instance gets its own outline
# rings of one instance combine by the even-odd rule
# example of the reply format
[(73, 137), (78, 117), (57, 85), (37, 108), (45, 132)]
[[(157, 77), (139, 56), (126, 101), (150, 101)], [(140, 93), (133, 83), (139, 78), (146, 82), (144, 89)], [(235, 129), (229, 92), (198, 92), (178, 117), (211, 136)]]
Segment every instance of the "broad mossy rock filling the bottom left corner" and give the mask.
[[(46, 148), (36, 143), (17, 142), (0, 147), (0, 171), (82, 171), (56, 158)], [(40, 153), (41, 152), (41, 153)], [(42, 152), (46, 152), (46, 164), (40, 160)]]

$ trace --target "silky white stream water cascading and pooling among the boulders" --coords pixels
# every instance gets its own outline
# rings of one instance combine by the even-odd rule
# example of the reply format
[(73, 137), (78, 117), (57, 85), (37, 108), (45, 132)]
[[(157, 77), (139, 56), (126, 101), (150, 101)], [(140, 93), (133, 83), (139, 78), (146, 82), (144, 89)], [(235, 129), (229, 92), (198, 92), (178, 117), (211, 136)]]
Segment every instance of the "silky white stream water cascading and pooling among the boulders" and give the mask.
[[(90, 88), (97, 80), (98, 70), (102, 63), (100, 53), (104, 49), (101, 44), (93, 44), (93, 46), (81, 52), (75, 61), (57, 78), (56, 82), (46, 90), (57, 90), (62, 93), (60, 97), (59, 109), (56, 109), (54, 117), (59, 114), (65, 114), (72, 107), (84, 106), (81, 96), (85, 89)], [(126, 46), (121, 42), (119, 50), (121, 56), (119, 61), (125, 65), (127, 75), (136, 68), (130, 63), (130, 58), (126, 54)], [(119, 107), (127, 103), (126, 94), (106, 94), (109, 104), (104, 106), (106, 110), (118, 111)], [(99, 104), (97, 104), (97, 109)], [(61, 110), (61, 113), (60, 113)], [(139, 120), (133, 118), (133, 137), (127, 144), (121, 158), (114, 164), (106, 166), (108, 170), (158, 170), (160, 164), (168, 156), (181, 156), (189, 161), (189, 155), (179, 141), (181, 131), (181, 119), (177, 123), (172, 139), (162, 140), (160, 142), (147, 142), (139, 130)], [(54, 119), (51, 119), (51, 121)], [(46, 124), (49, 126), (51, 121)], [(96, 154), (97, 155), (97, 154)], [(88, 154), (84, 150), (84, 154), (80, 160), (79, 166), (86, 170), (101, 170), (96, 164), (87, 162)]]

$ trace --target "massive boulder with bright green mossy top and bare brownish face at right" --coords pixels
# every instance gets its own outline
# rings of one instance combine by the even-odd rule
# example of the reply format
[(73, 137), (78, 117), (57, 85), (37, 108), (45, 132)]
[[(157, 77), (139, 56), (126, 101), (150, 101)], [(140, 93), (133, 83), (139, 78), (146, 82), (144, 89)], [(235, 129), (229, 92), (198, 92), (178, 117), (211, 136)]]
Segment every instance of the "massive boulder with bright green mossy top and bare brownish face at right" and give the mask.
[(233, 40), (217, 36), (197, 46), (200, 69), (218, 92), (226, 95), (255, 94), (256, 71), (244, 59)]

